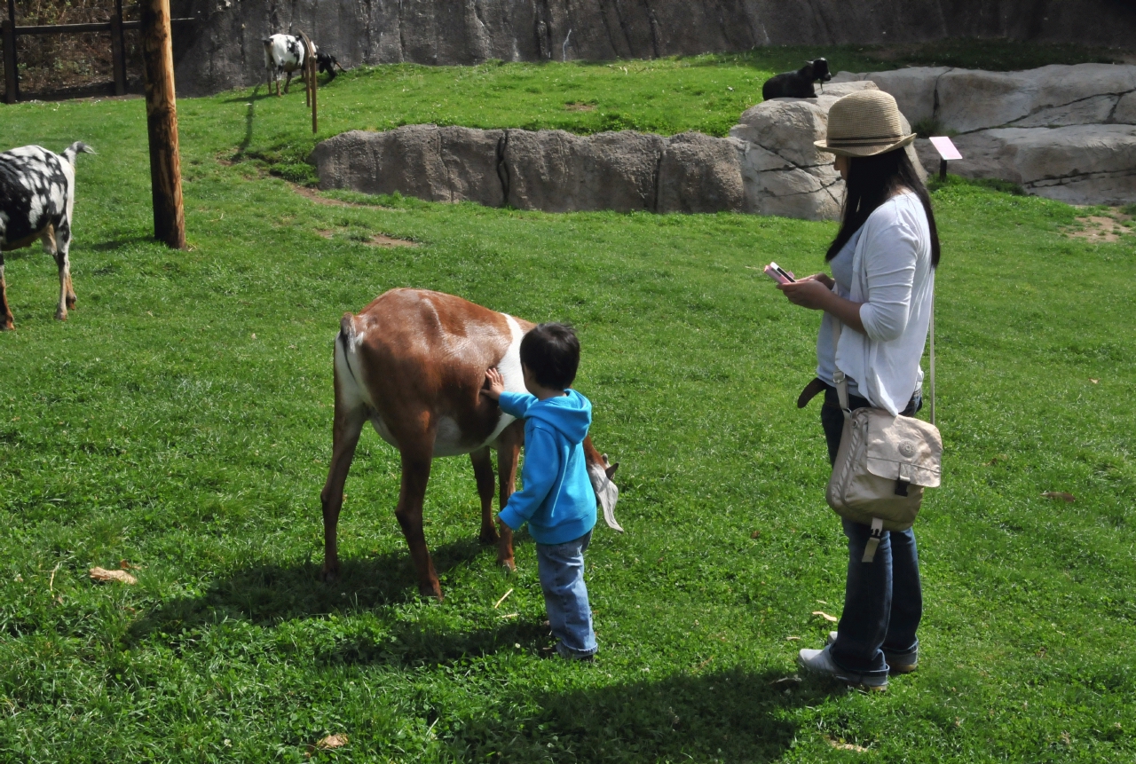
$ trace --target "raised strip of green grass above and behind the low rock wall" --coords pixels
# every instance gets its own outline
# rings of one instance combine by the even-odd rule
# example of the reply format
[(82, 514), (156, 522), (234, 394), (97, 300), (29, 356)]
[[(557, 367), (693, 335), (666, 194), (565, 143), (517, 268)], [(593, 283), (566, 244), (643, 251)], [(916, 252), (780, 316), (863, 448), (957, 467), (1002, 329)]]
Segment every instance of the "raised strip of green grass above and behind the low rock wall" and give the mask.
[(578, 134), (634, 129), (726, 135), (738, 115), (761, 100), (766, 79), (817, 56), (826, 56), (834, 73), (909, 65), (1013, 69), (1114, 58), (1109, 51), (1075, 45), (962, 40), (897, 48), (758, 48), (745, 53), (600, 64), (358, 67), (320, 89), (318, 136), (311, 135), (310, 123), (295, 106), (298, 99), (303, 100), (301, 85), (289, 99), (268, 98), (262, 85), (225, 93), (209, 108), (237, 110), (245, 118), (244, 133), (234, 135), (235, 158), (264, 165), (293, 182), (312, 183), (315, 175), (306, 160), (316, 141), (348, 129), (433, 123)]

